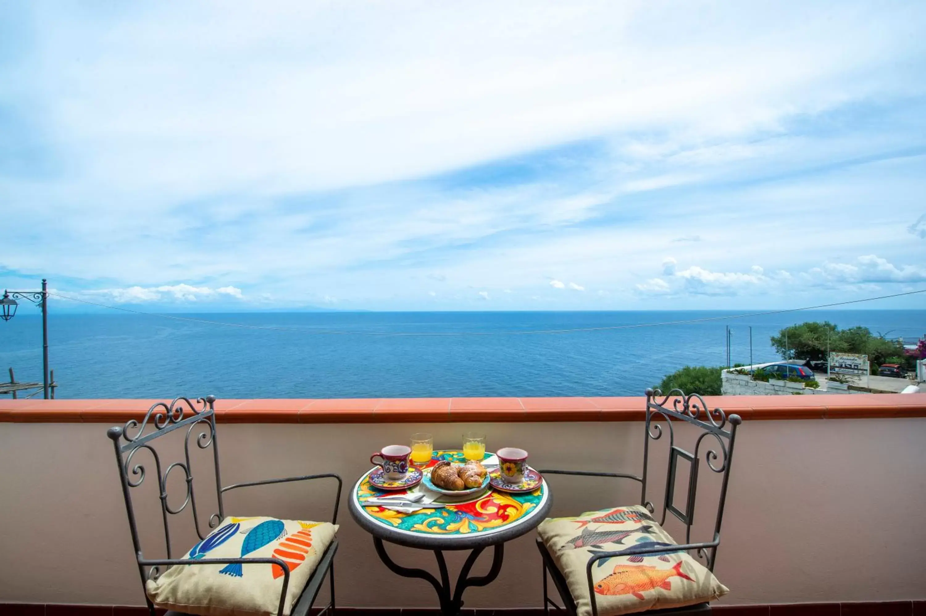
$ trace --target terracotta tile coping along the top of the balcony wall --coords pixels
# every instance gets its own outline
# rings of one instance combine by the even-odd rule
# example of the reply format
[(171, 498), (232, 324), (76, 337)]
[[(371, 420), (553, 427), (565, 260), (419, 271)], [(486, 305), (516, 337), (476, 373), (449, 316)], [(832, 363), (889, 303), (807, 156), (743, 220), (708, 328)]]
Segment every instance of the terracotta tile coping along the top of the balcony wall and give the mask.
[[(159, 400), (0, 400), (0, 422), (140, 420)], [(926, 417), (926, 394), (707, 396), (707, 405), (749, 420)], [(264, 398), (216, 400), (219, 423), (436, 423), (464, 421), (643, 421), (644, 396)]]

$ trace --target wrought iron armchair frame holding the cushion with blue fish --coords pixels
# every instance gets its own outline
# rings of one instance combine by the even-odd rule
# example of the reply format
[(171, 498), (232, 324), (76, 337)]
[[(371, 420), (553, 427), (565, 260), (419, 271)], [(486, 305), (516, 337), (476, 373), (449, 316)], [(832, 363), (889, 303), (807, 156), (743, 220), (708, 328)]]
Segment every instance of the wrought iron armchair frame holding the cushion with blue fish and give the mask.
[[(341, 477), (334, 473), (323, 473), (317, 475), (303, 475), (299, 477), (285, 477), (282, 479), (267, 479), (262, 481), (246, 482), (244, 484), (226, 485), (225, 487), (222, 487), (219, 475), (219, 441), (218, 434), (216, 433), (216, 416), (214, 408), (215, 400), (215, 396), (206, 396), (205, 398), (197, 398), (195, 404), (191, 402), (189, 398), (185, 397), (175, 398), (172, 402), (170, 402), (170, 404), (166, 402), (158, 402), (156, 405), (151, 407), (151, 409), (148, 409), (147, 413), (144, 415), (144, 420), (142, 420), (141, 423), (135, 420), (130, 420), (122, 427), (115, 426), (109, 428), (106, 431), (106, 435), (112, 439), (113, 446), (116, 449), (116, 460), (119, 463), (119, 480), (122, 484), (122, 497), (125, 498), (125, 507), (129, 516), (131, 542), (132, 547), (135, 549), (135, 557), (138, 562), (138, 572), (142, 578), (142, 587), (144, 590), (146, 580), (157, 579), (157, 577), (160, 575), (161, 567), (170, 567), (176, 564), (219, 565), (231, 563), (272, 563), (279, 565), (283, 572), (282, 593), (280, 596), (279, 609), (277, 611), (277, 616), (282, 616), (286, 591), (288, 589), (290, 580), (290, 568), (286, 562), (277, 558), (171, 558), (172, 550), (170, 546), (170, 530), (168, 524), (169, 515), (176, 515), (181, 513), (181, 511), (186, 509), (189, 505), (193, 510), (193, 520), (196, 534), (201, 540), (204, 540), (206, 539), (206, 535), (209, 534), (209, 531), (215, 528), (219, 522), (225, 518), (225, 508), (222, 502), (222, 496), (226, 492), (254, 485), (284, 484), (289, 482), (307, 481), (311, 479), (331, 478), (337, 480), (338, 483), (337, 495), (334, 498), (334, 512), (332, 515), (332, 523), (336, 523), (338, 518), (338, 503), (341, 501)], [(200, 408), (197, 408), (197, 405)], [(151, 421), (153, 424), (154, 430), (148, 432), (148, 434), (144, 434), (144, 430), (148, 426), (149, 421)], [(202, 427), (202, 432), (196, 436), (196, 446), (198, 446), (200, 449), (206, 449), (209, 446), (212, 447), (212, 457), (215, 460), (216, 497), (219, 502), (219, 512), (209, 517), (208, 529), (206, 530), (205, 534), (200, 530), (199, 517), (196, 511), (193, 469), (191, 468), (190, 464), (190, 436), (194, 433), (196, 426)], [(165, 471), (162, 472), (161, 459), (158, 456), (156, 449), (151, 446), (151, 443), (156, 438), (180, 428), (187, 429), (186, 438), (183, 442), (183, 454), (185, 461), (173, 462), (167, 467)], [(142, 484), (142, 482), (144, 482), (144, 466), (139, 463), (135, 463), (135, 465), (132, 466), (132, 459), (141, 449), (146, 449), (154, 458), (155, 462), (155, 469), (157, 472), (158, 497), (161, 502), (161, 517), (164, 521), (164, 538), (167, 546), (166, 559), (146, 559), (142, 553), (142, 546), (138, 534), (138, 526), (135, 521), (135, 511), (131, 496), (131, 488), (138, 487)], [(183, 471), (183, 479), (186, 482), (186, 498), (183, 500), (183, 503), (179, 508), (173, 509), (168, 503), (167, 483), (170, 471), (173, 471), (175, 468), (179, 468), (181, 471)], [(329, 545), (325, 552), (322, 554), (318, 566), (316, 567), (315, 571), (312, 572), (312, 575), (309, 577), (305, 588), (294, 602), (291, 616), (306, 616), (308, 611), (311, 609), (315, 598), (319, 594), (321, 584), (324, 581), (326, 574), (328, 575), (331, 589), (331, 601), (322, 610), (314, 613), (320, 615), (326, 612), (334, 612), (334, 554), (337, 552), (337, 549), (338, 541), (335, 538), (331, 545)], [(156, 616), (155, 606), (151, 602), (151, 599), (148, 598), (147, 593), (145, 593), (144, 600), (148, 605), (148, 611), (150, 612), (151, 616)], [(175, 612), (168, 613), (172, 614)]]

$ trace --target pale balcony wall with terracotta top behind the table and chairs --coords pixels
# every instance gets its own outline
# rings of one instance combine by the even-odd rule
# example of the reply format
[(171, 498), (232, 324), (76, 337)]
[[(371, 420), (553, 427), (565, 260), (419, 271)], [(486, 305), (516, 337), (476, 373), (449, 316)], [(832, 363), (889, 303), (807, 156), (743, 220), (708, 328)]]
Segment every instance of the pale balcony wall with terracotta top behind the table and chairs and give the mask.
[[(144, 603), (105, 433), (110, 425), (139, 417), (150, 402), (0, 402), (0, 602)], [(722, 604), (926, 597), (926, 525), (918, 517), (926, 510), (926, 395), (739, 396), (708, 402), (745, 419), (716, 568), (732, 588)], [(644, 443), (643, 398), (219, 400), (217, 409), (224, 484), (321, 471), (344, 478), (337, 556), (341, 606), (435, 603), (429, 585), (386, 570), (369, 535), (347, 511), (346, 494), (369, 469), (369, 454), (381, 446), (431, 432), (437, 446), (455, 448), (462, 432), (476, 428), (488, 434), (490, 448), (528, 449), (538, 468), (639, 472)], [(677, 436), (684, 446), (691, 434)], [(172, 446), (180, 455), (179, 442)], [(657, 449), (655, 456), (664, 468), (665, 451)], [(205, 521), (215, 506), (205, 497), (212, 478), (204, 462), (194, 459)], [(654, 472), (661, 478), (658, 464)], [(699, 487), (693, 539), (709, 535), (709, 509), (717, 494), (711, 474), (701, 473), (707, 483)], [(177, 482), (169, 490), (179, 497), (184, 488), (179, 477)], [(163, 555), (156, 541), (155, 484), (151, 477), (139, 488), (148, 489), (140, 497), (148, 498), (149, 507), (139, 518), (151, 557)], [(636, 484), (568, 477), (551, 477), (550, 484), (554, 516), (639, 502)], [(652, 496), (659, 496), (660, 485), (652, 484)], [(251, 488), (230, 496), (226, 511), (319, 519), (328, 513), (324, 503), (332, 494), (325, 487)], [(176, 518), (171, 533), (181, 552), (193, 544), (194, 533), (185, 514)], [(667, 527), (682, 538), (679, 524)], [(433, 569), (430, 553), (403, 547), (391, 552), (400, 563)], [(450, 555), (452, 571), (464, 556)], [(486, 562), (477, 565), (485, 567)], [(507, 545), (494, 584), (469, 589), (466, 599), (469, 608), (507, 608), (539, 606), (540, 596), (540, 560), (528, 534)]]

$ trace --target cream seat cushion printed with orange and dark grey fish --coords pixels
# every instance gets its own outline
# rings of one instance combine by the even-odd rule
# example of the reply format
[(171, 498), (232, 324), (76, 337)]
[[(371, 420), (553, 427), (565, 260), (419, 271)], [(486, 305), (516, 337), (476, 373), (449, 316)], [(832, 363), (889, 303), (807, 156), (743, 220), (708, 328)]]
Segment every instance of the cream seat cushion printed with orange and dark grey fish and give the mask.
[[(566, 578), (579, 616), (590, 616), (585, 567), (596, 552), (677, 545), (639, 505), (552, 518), (537, 527), (544, 546)], [(616, 556), (592, 566), (599, 616), (681, 608), (723, 597), (730, 590), (686, 552)]]

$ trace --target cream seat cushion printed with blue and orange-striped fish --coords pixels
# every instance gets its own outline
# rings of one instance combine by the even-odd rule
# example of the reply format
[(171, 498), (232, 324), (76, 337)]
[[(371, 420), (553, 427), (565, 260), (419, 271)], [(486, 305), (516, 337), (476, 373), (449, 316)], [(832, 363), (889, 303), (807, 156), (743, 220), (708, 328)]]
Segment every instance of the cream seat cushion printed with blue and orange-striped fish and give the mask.
[[(338, 527), (328, 522), (226, 518), (183, 559), (277, 558), (289, 566), (284, 614), (302, 594)], [(158, 608), (202, 616), (276, 616), (283, 570), (273, 563), (174, 565), (145, 585)]]

